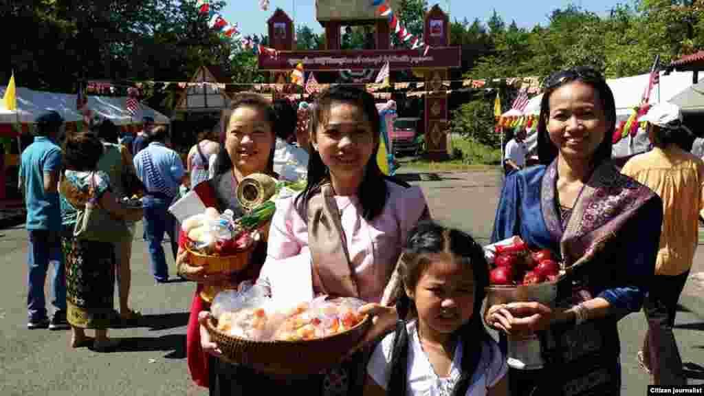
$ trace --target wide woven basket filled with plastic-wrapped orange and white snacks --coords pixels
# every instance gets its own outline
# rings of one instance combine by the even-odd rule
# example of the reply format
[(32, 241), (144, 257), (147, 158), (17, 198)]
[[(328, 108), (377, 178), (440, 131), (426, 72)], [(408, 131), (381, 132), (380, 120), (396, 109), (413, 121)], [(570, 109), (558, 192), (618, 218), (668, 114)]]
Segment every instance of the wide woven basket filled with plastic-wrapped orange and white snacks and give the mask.
[(371, 325), (365, 302), (319, 296), (293, 307), (259, 285), (215, 297), (207, 329), (227, 361), (279, 375), (310, 375), (338, 364)]

